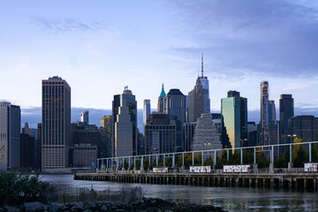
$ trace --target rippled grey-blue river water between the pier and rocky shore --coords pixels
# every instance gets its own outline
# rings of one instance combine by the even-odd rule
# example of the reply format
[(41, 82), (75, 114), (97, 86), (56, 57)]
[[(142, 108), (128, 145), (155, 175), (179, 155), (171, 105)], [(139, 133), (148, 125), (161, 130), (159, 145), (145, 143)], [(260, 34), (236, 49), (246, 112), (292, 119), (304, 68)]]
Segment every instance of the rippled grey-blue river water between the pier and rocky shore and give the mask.
[(122, 190), (140, 186), (145, 197), (211, 204), (228, 211), (318, 211), (318, 193), (268, 188), (174, 186), (73, 180), (73, 175), (42, 175), (51, 185)]

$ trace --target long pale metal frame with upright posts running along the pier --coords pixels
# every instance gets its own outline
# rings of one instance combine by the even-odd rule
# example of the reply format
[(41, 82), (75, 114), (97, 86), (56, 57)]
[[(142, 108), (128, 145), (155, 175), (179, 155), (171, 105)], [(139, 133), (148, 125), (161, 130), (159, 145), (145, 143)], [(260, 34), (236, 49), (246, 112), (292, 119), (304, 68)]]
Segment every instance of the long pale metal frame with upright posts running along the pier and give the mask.
[[(109, 157), (109, 158), (98, 158), (97, 159), (97, 169), (98, 170), (118, 170), (120, 167), (128, 167), (128, 170), (135, 170), (137, 167), (140, 170), (143, 170), (145, 163), (148, 163), (148, 167), (159, 167), (159, 162), (161, 167), (167, 167), (167, 160), (170, 159), (170, 167), (176, 167), (176, 157), (182, 160), (182, 166), (185, 167), (185, 157), (186, 155), (192, 156), (192, 164), (194, 165), (194, 156), (201, 155), (201, 165), (208, 158), (213, 158), (213, 165), (216, 166), (217, 155), (221, 155), (224, 152), (227, 155), (227, 161), (229, 161), (230, 153), (234, 151), (239, 151), (240, 155), (240, 164), (243, 164), (243, 156), (245, 150), (249, 153), (253, 152), (254, 155), (254, 164), (257, 164), (257, 152), (265, 152), (267, 157), (269, 157), (269, 169), (273, 171), (273, 164), (276, 160), (277, 149), (286, 148), (289, 150), (289, 163), (288, 169), (292, 170), (292, 149), (296, 146), (302, 146), (307, 149), (308, 156), (306, 161), (311, 163), (313, 158), (313, 146), (317, 145), (318, 141), (308, 141), (308, 142), (299, 142), (299, 143), (286, 143), (286, 144), (275, 144), (275, 145), (264, 145), (264, 146), (254, 146), (254, 147), (243, 147), (243, 148), (221, 148), (221, 149), (210, 149), (210, 150), (201, 150), (201, 151), (187, 151), (187, 152), (174, 152), (174, 153), (163, 153), (163, 154), (153, 154), (153, 155), (130, 155), (130, 156), (120, 156), (120, 157)], [(138, 166), (137, 166), (138, 163)], [(257, 169), (257, 165), (256, 165)], [(282, 170), (282, 169), (281, 169)], [(284, 170), (283, 170), (284, 171)], [(297, 171), (297, 170), (296, 170)]]

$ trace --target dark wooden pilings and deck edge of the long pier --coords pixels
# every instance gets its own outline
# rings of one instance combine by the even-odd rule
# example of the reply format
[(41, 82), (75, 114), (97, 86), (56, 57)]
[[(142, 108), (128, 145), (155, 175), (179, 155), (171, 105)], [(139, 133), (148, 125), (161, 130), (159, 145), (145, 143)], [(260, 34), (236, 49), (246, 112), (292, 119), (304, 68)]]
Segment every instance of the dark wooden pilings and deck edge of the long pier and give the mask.
[[(127, 171), (129, 172), (129, 171)], [(76, 173), (75, 180), (122, 183), (306, 188), (317, 190), (317, 173)]]

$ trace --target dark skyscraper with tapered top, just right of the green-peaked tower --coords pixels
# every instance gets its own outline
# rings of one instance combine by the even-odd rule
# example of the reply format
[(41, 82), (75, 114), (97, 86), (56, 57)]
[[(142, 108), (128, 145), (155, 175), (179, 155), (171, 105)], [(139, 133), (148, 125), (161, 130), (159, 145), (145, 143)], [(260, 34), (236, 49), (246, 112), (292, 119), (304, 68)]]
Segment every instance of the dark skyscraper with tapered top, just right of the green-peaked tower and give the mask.
[(179, 89), (170, 89), (168, 94), (163, 97), (163, 113), (175, 117), (177, 151), (182, 151), (184, 149), (183, 125), (186, 122), (186, 96)]

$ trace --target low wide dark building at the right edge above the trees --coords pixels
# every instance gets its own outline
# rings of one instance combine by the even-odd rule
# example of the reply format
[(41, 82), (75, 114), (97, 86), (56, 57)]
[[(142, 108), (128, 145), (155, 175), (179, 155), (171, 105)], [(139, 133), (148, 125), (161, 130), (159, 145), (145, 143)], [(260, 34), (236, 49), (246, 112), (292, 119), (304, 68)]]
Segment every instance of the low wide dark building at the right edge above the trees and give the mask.
[(288, 119), (288, 129), (289, 134), (295, 134), (305, 142), (318, 140), (318, 117), (290, 117)]

